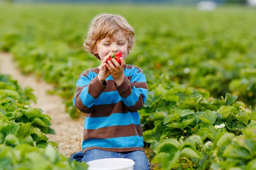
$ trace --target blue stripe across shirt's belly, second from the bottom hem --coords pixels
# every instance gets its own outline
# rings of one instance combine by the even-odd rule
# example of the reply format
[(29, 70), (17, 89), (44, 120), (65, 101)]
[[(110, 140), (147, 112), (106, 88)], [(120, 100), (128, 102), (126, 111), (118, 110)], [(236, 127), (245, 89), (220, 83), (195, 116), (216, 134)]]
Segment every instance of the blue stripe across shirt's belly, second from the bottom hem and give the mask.
[(113, 113), (108, 117), (85, 117), (84, 129), (98, 129), (109, 126), (140, 125), (138, 112)]

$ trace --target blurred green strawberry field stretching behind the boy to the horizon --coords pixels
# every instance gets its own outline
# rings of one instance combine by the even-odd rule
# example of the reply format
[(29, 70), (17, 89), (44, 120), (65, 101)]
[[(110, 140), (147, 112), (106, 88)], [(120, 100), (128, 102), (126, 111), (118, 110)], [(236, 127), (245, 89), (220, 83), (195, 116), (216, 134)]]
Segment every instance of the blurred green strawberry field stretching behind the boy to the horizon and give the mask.
[(142, 68), (147, 79), (154, 80), (152, 72), (165, 74), (169, 82), (207, 89), (216, 98), (230, 92), (255, 106), (252, 9), (222, 7), (209, 13), (143, 6), (16, 5), (0, 9), (5, 14), (0, 15), (1, 50), (14, 54), (24, 74), (33, 73), (54, 84), (52, 93), (64, 98), (72, 117), (78, 115), (71, 98), (79, 74), (99, 65), (82, 50), (82, 37), (91, 18), (101, 12), (122, 14), (134, 26), (136, 43), (126, 63)]

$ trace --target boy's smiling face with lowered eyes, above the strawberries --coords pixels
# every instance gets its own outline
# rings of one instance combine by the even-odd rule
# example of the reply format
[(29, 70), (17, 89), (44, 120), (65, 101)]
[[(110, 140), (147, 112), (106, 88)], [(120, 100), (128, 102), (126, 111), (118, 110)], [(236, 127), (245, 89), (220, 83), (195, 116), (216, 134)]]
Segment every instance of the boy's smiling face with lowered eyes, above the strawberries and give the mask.
[(113, 40), (111, 38), (102, 39), (96, 46), (95, 54), (99, 54), (100, 60), (102, 61), (104, 57), (108, 54), (113, 54), (114, 52), (122, 52), (122, 57), (125, 59), (128, 55), (128, 40), (125, 38), (122, 31), (118, 31), (114, 34)]

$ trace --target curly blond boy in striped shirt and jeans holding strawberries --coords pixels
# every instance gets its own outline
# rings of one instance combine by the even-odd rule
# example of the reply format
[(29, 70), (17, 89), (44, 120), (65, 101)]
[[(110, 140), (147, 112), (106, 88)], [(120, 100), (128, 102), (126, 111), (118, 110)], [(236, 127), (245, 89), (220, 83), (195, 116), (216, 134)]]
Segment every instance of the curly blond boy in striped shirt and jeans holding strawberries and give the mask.
[[(128, 158), (135, 161), (134, 170), (149, 170), (138, 113), (147, 100), (148, 86), (140, 68), (125, 64), (133, 45), (134, 30), (124, 17), (99, 14), (91, 21), (84, 48), (101, 65), (84, 71), (76, 84), (73, 104), (87, 114), (83, 151), (71, 160)], [(121, 65), (116, 59), (108, 61), (119, 51)]]

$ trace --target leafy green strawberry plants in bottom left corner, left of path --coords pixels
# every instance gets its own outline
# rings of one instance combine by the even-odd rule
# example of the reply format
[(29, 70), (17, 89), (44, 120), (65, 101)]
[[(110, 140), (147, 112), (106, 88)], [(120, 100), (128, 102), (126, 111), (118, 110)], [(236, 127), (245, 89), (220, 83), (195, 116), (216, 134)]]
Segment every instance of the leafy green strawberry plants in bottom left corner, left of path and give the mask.
[(0, 169), (80, 170), (87, 164), (69, 161), (49, 141), (55, 134), (48, 115), (29, 107), (35, 101), (31, 88), (21, 88), (17, 80), (0, 74)]

